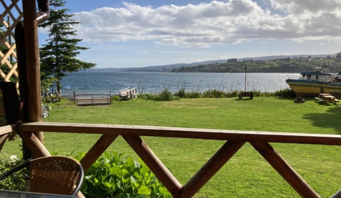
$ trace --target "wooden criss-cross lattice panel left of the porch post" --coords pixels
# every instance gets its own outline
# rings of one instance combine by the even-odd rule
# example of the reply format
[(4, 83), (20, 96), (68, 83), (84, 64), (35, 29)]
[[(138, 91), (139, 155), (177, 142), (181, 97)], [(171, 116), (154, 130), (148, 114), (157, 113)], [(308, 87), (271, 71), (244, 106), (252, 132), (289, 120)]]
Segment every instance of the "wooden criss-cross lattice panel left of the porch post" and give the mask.
[[(0, 21), (4, 24), (4, 28), (6, 28), (3, 29), (5, 34), (0, 35), (0, 45), (4, 45), (8, 49), (5, 54), (0, 51), (0, 78), (2, 81), (9, 82), (13, 75), (18, 77), (14, 28), (22, 19), (23, 14), (18, 6), (19, 0), (0, 0), (0, 2), (5, 10), (1, 13)], [(13, 41), (13, 43), (10, 41)]]

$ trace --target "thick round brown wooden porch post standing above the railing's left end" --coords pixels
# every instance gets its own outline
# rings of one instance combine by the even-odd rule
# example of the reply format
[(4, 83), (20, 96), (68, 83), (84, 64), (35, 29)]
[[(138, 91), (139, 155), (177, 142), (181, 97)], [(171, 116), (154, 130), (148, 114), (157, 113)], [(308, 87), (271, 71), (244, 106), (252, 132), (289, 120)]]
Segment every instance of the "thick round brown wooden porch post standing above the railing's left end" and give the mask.
[[(42, 121), (41, 92), (40, 92), (40, 69), (39, 69), (39, 46), (38, 46), (38, 22), (36, 0), (22, 1), (25, 32), (25, 51), (27, 69), (27, 87), (29, 97), (30, 121)], [(35, 132), (41, 143), (43, 133)]]

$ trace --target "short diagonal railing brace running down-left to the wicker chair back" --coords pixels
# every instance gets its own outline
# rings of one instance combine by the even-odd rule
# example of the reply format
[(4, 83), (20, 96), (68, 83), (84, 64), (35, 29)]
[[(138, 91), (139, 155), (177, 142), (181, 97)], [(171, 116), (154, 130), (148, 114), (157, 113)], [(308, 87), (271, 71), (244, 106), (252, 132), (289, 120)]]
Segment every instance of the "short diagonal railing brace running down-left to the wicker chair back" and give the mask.
[(82, 164), (84, 172), (87, 172), (101, 154), (115, 141), (118, 135), (102, 135), (98, 141), (91, 147), (86, 155), (79, 161)]

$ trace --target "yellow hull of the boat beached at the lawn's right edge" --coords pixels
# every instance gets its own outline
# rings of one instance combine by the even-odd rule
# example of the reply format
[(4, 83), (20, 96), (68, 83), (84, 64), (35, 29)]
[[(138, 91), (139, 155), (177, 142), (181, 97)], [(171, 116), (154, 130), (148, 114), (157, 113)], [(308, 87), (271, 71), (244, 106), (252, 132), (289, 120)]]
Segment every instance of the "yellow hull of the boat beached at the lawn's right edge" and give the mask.
[(317, 97), (319, 93), (341, 94), (341, 83), (288, 79), (297, 97)]

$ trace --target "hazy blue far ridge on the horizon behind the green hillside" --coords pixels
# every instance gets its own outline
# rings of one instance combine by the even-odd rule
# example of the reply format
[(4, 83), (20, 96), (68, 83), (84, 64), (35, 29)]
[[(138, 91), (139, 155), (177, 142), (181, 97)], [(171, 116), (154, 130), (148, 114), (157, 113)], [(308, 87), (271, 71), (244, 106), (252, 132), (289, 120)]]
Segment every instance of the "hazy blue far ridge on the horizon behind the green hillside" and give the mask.
[[(238, 61), (245, 60), (274, 60), (274, 59), (281, 59), (281, 58), (298, 58), (298, 57), (326, 57), (329, 56), (336, 56), (336, 54), (320, 54), (320, 55), (278, 55), (278, 56), (261, 56), (261, 57), (246, 57), (246, 58), (238, 58)], [(202, 62), (192, 62), (192, 63), (176, 63), (176, 64), (165, 64), (165, 65), (155, 65), (155, 66), (148, 66), (148, 67), (140, 67), (140, 68), (92, 68), (87, 70), (88, 72), (157, 72), (157, 71), (171, 71), (173, 68), (181, 68), (181, 67), (192, 67), (196, 65), (203, 65), (203, 64), (212, 64), (212, 63), (223, 63), (228, 61), (228, 59), (221, 59), (221, 60), (207, 60)]]

